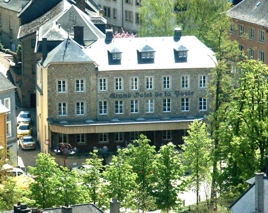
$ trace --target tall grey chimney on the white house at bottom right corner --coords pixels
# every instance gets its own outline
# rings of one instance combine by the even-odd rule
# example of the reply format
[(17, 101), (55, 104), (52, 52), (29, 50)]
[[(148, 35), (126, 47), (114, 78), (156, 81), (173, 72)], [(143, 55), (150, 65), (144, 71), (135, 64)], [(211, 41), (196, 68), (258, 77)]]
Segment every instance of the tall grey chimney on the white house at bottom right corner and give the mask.
[(263, 172), (255, 174), (255, 213), (264, 212), (264, 201), (263, 201)]

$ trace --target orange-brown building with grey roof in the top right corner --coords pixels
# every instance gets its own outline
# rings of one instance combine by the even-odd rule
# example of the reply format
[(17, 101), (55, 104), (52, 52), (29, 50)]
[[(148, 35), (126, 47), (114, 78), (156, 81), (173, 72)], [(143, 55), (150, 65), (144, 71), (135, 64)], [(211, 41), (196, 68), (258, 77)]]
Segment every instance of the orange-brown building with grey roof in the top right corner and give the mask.
[(231, 38), (248, 58), (268, 64), (268, 1), (244, 0), (227, 11)]

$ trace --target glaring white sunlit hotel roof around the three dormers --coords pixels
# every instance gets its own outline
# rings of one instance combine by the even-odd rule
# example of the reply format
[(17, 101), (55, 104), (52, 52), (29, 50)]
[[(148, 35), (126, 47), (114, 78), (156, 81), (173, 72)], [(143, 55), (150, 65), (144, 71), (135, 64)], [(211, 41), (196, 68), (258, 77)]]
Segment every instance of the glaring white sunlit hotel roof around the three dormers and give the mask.
[[(138, 64), (137, 50), (145, 45), (154, 51), (154, 63)], [(176, 63), (174, 47), (182, 44), (189, 51), (187, 62)], [(107, 50), (111, 46), (122, 51), (121, 65), (109, 65)], [(137, 48), (138, 47), (138, 48)], [(200, 42), (195, 36), (182, 36), (177, 42), (170, 37), (150, 38), (113, 38), (111, 42), (98, 39), (83, 51), (98, 64), (98, 70), (144, 70), (144, 69), (185, 69), (185, 68), (213, 68), (217, 63), (214, 52)]]

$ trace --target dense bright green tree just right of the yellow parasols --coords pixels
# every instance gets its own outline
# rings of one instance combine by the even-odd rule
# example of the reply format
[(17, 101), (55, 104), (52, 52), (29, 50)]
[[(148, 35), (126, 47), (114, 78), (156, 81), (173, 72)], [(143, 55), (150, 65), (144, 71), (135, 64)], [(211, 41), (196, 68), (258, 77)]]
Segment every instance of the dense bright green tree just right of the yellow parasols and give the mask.
[[(36, 159), (36, 167), (29, 167), (29, 172), (36, 176), (35, 182), (31, 183), (30, 196), (36, 201), (35, 206), (51, 208), (59, 205), (58, 164), (49, 154), (39, 153)], [(51, 199), (53, 197), (53, 199)]]

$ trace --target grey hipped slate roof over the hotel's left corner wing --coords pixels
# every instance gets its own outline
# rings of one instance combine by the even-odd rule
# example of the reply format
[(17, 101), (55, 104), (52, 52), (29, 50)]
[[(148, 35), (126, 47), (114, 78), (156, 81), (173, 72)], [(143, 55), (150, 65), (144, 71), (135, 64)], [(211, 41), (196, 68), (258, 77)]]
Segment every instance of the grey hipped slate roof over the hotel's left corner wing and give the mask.
[(92, 62), (81, 48), (83, 47), (73, 39), (65, 39), (47, 54), (46, 59), (42, 60), (41, 64), (47, 67), (50, 63)]

